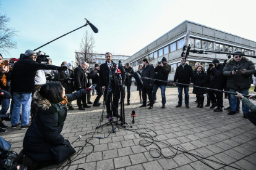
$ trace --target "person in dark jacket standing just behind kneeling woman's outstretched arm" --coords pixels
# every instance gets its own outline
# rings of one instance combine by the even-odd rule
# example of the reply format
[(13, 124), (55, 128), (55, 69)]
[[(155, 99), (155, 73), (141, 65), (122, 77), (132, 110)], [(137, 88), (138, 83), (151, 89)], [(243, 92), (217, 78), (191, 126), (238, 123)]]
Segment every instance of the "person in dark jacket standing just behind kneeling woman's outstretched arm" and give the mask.
[[(66, 66), (67, 62), (62, 62), (61, 67)], [(75, 91), (74, 89), (74, 71), (70, 70), (70, 67), (67, 66), (67, 70), (58, 71), (57, 81), (61, 82), (62, 86), (65, 88), (66, 94), (72, 94)], [(72, 106), (72, 101), (67, 102), (69, 110), (74, 110)]]

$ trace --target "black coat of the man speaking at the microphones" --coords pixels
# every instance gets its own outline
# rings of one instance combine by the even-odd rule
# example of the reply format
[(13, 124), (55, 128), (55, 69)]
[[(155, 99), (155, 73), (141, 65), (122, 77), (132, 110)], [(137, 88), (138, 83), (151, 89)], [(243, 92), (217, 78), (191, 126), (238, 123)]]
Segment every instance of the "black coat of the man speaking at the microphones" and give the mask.
[[(118, 69), (121, 70), (122, 81), (124, 81), (124, 77), (125, 77), (124, 68), (122, 68), (121, 65), (118, 64)], [(108, 87), (108, 81), (109, 81), (109, 68), (108, 68), (108, 64), (105, 62), (100, 65), (100, 87), (103, 87), (103, 86)]]

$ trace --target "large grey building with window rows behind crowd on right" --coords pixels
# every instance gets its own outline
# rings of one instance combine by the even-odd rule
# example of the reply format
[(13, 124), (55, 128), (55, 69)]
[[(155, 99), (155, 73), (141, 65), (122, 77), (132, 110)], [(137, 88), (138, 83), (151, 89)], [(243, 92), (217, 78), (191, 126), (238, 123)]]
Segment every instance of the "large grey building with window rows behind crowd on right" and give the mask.
[[(173, 80), (176, 68), (181, 63), (184, 37), (188, 29), (191, 30), (189, 41), (192, 49), (222, 52), (242, 51), (248, 55), (255, 55), (255, 41), (186, 20), (130, 56), (124, 63), (129, 62), (134, 70), (138, 70), (139, 65), (145, 58), (156, 66), (157, 62), (161, 61), (163, 57), (166, 57), (168, 63), (171, 65), (169, 80)], [(223, 63), (225, 59), (228, 59), (228, 56), (226, 54), (207, 55), (190, 53), (187, 63), (195, 68), (195, 62), (200, 62), (207, 69), (208, 64), (213, 59), (218, 59)], [(250, 58), (250, 60), (256, 65), (256, 59)]]

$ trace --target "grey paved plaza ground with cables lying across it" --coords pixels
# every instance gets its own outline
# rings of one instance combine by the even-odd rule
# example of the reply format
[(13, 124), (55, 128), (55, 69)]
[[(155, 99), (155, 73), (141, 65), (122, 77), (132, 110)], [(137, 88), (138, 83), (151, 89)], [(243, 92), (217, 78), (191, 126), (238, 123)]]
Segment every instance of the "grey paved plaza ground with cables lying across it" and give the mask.
[[(135, 87), (132, 89), (135, 89)], [(166, 108), (163, 109), (161, 108), (160, 89), (158, 89), (157, 101), (153, 109), (148, 110), (148, 107), (139, 108), (141, 105), (139, 92), (132, 91), (130, 105), (125, 102), (126, 121), (132, 123), (130, 114), (132, 110), (135, 110), (135, 123), (132, 124), (133, 128), (130, 129), (138, 129), (138, 133), (117, 127), (116, 133), (111, 132), (109, 134), (112, 127), (108, 125), (102, 129), (97, 129), (98, 132), (94, 134), (92, 140), (88, 139), (92, 137), (92, 134), (84, 135), (95, 131), (95, 127), (101, 118), (102, 107), (91, 107), (85, 111), (80, 111), (73, 102), (75, 110), (68, 111), (62, 135), (69, 142), (75, 141), (72, 144), (73, 147), (81, 146), (75, 148), (76, 150), (82, 147), (83, 150), (79, 155), (71, 158), (75, 161), (71, 163), (69, 169), (212, 169), (199, 161), (202, 157), (238, 169), (256, 169), (256, 127), (248, 119), (242, 117), (242, 111), (229, 116), (226, 110), (214, 112), (209, 107), (197, 108), (197, 104), (194, 103), (195, 95), (192, 94), (192, 88), (189, 89), (189, 92), (190, 108), (186, 108), (184, 103), (182, 107), (176, 108), (177, 88), (167, 88)], [(92, 95), (92, 101), (95, 97), (95, 95)], [(102, 100), (103, 97), (101, 97), (101, 103), (103, 103)], [(228, 99), (224, 99), (224, 107), (227, 106)], [(105, 113), (103, 123), (106, 122), (108, 122), (108, 119)], [(6, 125), (11, 126), (10, 122), (7, 122)], [(116, 127), (116, 125), (114, 126)], [(157, 148), (155, 144), (147, 147), (140, 145), (145, 144), (143, 139), (152, 140), (140, 136), (139, 133), (147, 133), (153, 136), (153, 131), (157, 134), (153, 139), (168, 144), (155, 142), (161, 148), (163, 154), (159, 158), (151, 156), (158, 156), (156, 151), (150, 150), (150, 148)], [(2, 134), (2, 137), (11, 143), (15, 152), (19, 153), (22, 150), (25, 132), (26, 130), (20, 130), (19, 128), (8, 129), (5, 134)], [(79, 139), (79, 136), (82, 136), (82, 138)], [(89, 143), (94, 146), (94, 150), (90, 144), (85, 146), (85, 140), (90, 140)], [(194, 156), (181, 151), (178, 151), (177, 155), (174, 156), (177, 147), (179, 147), (179, 150), (186, 150), (189, 153), (201, 156), (201, 158), (197, 157), (198, 160)], [(92, 153), (86, 156), (90, 152)], [(174, 157), (164, 158), (164, 156)], [(204, 161), (214, 169), (234, 169), (213, 161)], [(49, 166), (46, 169), (56, 168), (57, 166)]]

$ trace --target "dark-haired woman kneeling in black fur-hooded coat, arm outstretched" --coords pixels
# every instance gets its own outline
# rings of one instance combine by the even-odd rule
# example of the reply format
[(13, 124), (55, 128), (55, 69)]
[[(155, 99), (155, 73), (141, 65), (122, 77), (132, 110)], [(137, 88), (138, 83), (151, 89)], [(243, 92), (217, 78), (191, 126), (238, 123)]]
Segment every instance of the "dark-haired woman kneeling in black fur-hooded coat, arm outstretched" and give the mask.
[(38, 113), (23, 139), (25, 157), (22, 164), (28, 166), (28, 169), (40, 169), (54, 164), (51, 148), (64, 144), (61, 131), (67, 118), (67, 102), (82, 97), (90, 90), (92, 89), (87, 88), (74, 94), (65, 94), (65, 89), (59, 82), (41, 86), (40, 91), (33, 95)]

